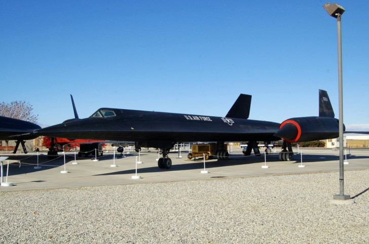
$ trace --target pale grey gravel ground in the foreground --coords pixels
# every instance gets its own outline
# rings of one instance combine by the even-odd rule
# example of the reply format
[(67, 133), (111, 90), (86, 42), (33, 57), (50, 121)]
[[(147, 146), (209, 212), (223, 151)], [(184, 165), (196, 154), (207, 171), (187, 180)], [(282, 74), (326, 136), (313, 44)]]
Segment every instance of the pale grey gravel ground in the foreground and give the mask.
[(369, 243), (369, 170), (0, 192), (1, 243)]

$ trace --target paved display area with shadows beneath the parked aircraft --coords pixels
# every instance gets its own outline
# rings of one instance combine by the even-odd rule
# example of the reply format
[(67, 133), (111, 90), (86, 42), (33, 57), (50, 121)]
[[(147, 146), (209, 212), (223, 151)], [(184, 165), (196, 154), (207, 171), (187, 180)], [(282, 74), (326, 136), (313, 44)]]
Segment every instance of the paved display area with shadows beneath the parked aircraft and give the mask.
[[(278, 149), (277, 149), (278, 150)], [(9, 157), (9, 173), (7, 176), (8, 160), (4, 161), (4, 182), (12, 182), (13, 186), (2, 186), (0, 191), (17, 191), (30, 189), (70, 188), (97, 185), (119, 185), (152, 182), (172, 182), (188, 180), (207, 180), (218, 178), (254, 177), (263, 175), (288, 175), (316, 172), (339, 172), (339, 151), (331, 149), (302, 149), (302, 155), (296, 153), (292, 161), (282, 162), (278, 159), (278, 152), (259, 157), (243, 156), (240, 150), (230, 153), (228, 160), (211, 159), (206, 161), (204, 170), (202, 158), (187, 160), (187, 153), (182, 152), (178, 158), (177, 152), (172, 152), (172, 167), (167, 170), (159, 169), (157, 165), (157, 151), (145, 151), (140, 154), (130, 153), (126, 157), (113, 152), (104, 152), (98, 161), (90, 158), (75, 160), (74, 152), (50, 160), (47, 152), (28, 154), (0, 155)], [(369, 169), (369, 149), (347, 150), (345, 171)], [(136, 157), (137, 164), (136, 173)], [(64, 161), (65, 158), (65, 161)], [(301, 163), (302, 159), (302, 163)], [(346, 161), (346, 160), (345, 160)], [(64, 164), (65, 162), (65, 164)], [(78, 164), (73, 164), (78, 163)], [(39, 165), (40, 169), (35, 169)], [(111, 165), (116, 165), (112, 167)], [(262, 168), (267, 165), (269, 168)], [(298, 167), (304, 165), (305, 167)], [(68, 173), (62, 173), (68, 171)], [(140, 176), (132, 179), (132, 176)], [(339, 178), (337, 177), (339, 185)], [(338, 192), (339, 193), (339, 192)]]

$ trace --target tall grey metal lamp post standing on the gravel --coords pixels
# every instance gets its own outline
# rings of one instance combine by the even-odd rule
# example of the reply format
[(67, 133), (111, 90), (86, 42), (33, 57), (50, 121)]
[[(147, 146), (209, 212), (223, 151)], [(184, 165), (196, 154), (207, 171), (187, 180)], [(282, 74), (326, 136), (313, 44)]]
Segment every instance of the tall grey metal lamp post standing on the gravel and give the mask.
[(337, 19), (337, 42), (338, 42), (338, 92), (339, 92), (339, 139), (340, 139), (340, 194), (334, 195), (334, 200), (349, 200), (350, 195), (344, 194), (344, 169), (343, 169), (343, 92), (342, 92), (342, 38), (341, 16), (345, 9), (338, 4), (326, 3), (323, 8), (327, 13)]

